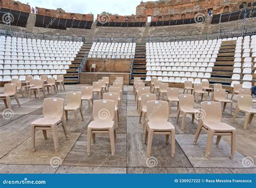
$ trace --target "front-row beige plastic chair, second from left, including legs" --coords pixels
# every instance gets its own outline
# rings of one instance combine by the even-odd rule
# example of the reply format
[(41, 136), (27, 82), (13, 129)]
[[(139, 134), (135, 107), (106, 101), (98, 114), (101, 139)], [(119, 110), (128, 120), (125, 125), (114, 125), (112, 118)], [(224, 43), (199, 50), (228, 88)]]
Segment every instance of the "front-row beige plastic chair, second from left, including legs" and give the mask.
[(95, 134), (107, 133), (110, 137), (111, 155), (116, 154), (114, 143), (116, 142), (116, 129), (114, 128), (114, 101), (96, 100), (93, 102), (93, 121), (87, 128), (87, 155), (91, 155), (91, 137), (95, 143)]

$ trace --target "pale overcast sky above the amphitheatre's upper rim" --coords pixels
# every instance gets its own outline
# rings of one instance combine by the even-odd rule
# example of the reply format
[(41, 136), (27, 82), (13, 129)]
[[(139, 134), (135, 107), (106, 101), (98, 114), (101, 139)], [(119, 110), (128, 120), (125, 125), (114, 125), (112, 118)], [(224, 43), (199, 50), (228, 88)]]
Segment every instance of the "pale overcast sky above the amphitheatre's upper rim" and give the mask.
[[(31, 7), (46, 9), (62, 8), (65, 12), (73, 13), (97, 13), (103, 11), (117, 13), (118, 15), (136, 14), (136, 6), (142, 0), (19, 0), (22, 3), (29, 3)], [(146, 2), (146, 0), (143, 0)], [(156, 1), (156, 0), (151, 0)], [(96, 17), (95, 17), (96, 18)]]

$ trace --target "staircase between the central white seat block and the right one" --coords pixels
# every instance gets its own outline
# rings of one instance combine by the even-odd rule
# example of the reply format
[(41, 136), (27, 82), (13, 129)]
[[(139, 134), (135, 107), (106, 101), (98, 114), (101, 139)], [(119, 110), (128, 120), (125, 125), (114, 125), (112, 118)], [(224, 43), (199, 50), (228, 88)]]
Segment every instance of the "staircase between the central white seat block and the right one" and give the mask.
[(133, 59), (132, 80), (134, 77), (146, 79), (146, 44), (136, 44)]

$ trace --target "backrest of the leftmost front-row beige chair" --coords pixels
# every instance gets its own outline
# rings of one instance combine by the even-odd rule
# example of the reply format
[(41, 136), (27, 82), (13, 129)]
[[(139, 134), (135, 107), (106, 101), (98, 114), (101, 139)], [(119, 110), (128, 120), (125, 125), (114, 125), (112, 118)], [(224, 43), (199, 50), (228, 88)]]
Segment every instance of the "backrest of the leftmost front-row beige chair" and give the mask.
[(44, 99), (43, 115), (44, 117), (50, 117), (51, 119), (61, 119), (62, 117), (64, 117), (64, 99)]

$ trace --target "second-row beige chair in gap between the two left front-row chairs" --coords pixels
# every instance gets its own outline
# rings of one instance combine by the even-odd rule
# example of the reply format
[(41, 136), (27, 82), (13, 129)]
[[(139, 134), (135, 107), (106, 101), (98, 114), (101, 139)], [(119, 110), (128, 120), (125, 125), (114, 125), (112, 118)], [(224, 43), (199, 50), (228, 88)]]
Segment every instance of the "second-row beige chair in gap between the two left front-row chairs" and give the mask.
[(81, 92), (66, 93), (66, 106), (64, 106), (66, 120), (68, 120), (68, 112), (73, 111), (76, 124), (78, 124), (78, 109), (80, 110), (82, 121), (84, 120), (81, 95)]

